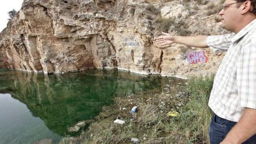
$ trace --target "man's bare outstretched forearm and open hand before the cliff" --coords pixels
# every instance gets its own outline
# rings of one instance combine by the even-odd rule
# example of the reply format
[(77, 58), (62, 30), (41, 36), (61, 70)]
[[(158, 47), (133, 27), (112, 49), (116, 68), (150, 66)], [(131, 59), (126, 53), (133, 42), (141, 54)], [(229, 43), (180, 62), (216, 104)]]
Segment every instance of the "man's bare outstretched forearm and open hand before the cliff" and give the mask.
[(191, 47), (208, 47), (206, 43), (207, 36), (198, 35), (198, 36), (173, 36), (168, 33), (162, 32), (163, 35), (156, 38), (156, 41), (160, 45), (167, 45), (172, 43), (179, 43), (183, 45), (188, 45)]

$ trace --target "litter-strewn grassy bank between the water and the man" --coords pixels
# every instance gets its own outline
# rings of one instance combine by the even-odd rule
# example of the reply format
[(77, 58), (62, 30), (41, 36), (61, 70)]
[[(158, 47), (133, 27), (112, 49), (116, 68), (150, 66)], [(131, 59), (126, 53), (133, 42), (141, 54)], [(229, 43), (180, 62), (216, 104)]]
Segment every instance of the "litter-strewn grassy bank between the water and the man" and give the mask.
[[(117, 98), (118, 104), (106, 107), (97, 121), (72, 143), (129, 143), (132, 137), (141, 143), (209, 143), (211, 112), (207, 102), (213, 78), (191, 78), (187, 86), (171, 82), (171, 86), (167, 86), (168, 95), (167, 90), (163, 90), (157, 94), (150, 92), (152, 95)], [(175, 97), (175, 93), (185, 89), (185, 98)], [(128, 101), (131, 98), (137, 99), (139, 108), (133, 115), (129, 115), (129, 110), (119, 110), (120, 106), (131, 106)], [(184, 104), (177, 106), (179, 102)], [(168, 117), (166, 113), (173, 110), (179, 112), (179, 116)], [(114, 124), (116, 117), (126, 123)]]

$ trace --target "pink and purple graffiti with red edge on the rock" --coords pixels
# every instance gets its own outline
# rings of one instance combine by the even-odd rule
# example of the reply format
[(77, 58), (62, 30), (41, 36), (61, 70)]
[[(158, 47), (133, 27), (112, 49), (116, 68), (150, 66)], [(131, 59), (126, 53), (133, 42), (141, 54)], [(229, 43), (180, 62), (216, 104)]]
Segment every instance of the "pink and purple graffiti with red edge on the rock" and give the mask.
[(205, 51), (191, 51), (187, 54), (187, 60), (189, 63), (206, 63), (207, 56), (205, 56)]

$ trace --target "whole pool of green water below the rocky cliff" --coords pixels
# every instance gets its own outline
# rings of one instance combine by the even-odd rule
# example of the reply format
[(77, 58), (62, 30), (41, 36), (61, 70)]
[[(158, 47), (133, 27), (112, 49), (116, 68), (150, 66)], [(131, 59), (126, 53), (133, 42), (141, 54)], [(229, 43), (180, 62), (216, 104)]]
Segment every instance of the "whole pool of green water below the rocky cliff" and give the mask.
[(0, 144), (35, 143), (74, 135), (67, 128), (93, 119), (113, 97), (138, 94), (166, 82), (117, 70), (69, 74), (0, 71)]

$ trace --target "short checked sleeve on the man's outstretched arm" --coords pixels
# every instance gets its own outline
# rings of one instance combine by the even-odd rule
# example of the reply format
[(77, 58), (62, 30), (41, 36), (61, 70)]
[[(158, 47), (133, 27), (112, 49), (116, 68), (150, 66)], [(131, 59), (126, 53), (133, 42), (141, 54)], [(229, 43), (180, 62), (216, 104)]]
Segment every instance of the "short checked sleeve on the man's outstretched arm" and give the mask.
[(214, 52), (227, 51), (235, 33), (208, 36), (206, 43)]

